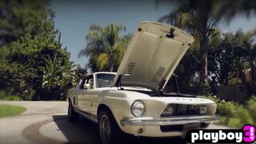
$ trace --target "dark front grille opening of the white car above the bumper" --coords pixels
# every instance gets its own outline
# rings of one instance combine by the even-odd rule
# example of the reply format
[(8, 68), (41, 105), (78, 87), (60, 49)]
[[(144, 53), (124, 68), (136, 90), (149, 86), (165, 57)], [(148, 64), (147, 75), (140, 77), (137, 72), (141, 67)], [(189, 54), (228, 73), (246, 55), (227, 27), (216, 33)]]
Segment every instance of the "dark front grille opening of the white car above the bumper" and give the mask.
[(169, 104), (162, 111), (160, 118), (169, 118), (169, 117), (175, 117), (175, 116), (206, 115), (207, 109), (205, 113), (202, 113), (202, 108), (206, 109), (206, 106), (205, 105)]

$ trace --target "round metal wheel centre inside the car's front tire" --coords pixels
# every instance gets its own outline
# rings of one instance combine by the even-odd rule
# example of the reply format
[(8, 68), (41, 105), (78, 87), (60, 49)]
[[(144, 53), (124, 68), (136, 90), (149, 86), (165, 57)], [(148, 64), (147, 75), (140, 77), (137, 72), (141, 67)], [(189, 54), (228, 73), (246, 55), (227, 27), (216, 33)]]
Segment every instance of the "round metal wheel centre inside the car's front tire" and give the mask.
[(110, 141), (110, 121), (106, 115), (103, 115), (100, 122), (100, 135), (102, 138), (102, 142), (108, 143)]

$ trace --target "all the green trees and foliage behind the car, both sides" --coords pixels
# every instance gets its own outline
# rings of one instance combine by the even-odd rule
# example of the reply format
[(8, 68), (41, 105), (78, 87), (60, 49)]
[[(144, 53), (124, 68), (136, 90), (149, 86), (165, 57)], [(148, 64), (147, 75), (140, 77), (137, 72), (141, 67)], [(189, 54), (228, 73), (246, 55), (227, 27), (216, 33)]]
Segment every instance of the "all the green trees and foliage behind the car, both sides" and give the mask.
[[(230, 22), (235, 14), (254, 14), (256, 1), (171, 2), (174, 7), (170, 14), (160, 21), (193, 34), (195, 42), (174, 71), (168, 85), (170, 90), (209, 94), (207, 83), (214, 75), (221, 85), (240, 82), (250, 94), (256, 94), (256, 30), (226, 34), (218, 30), (220, 21)], [(61, 33), (54, 27), (54, 13), (47, 6), (49, 1), (0, 2), (1, 99), (64, 99), (77, 79), (86, 77), (86, 69), (75, 68), (70, 62), (70, 54), (61, 43)], [(126, 34), (126, 26), (114, 22), (108, 26), (93, 24), (79, 57), (90, 58), (86, 67), (92, 72), (116, 71), (131, 36)], [(250, 72), (249, 81), (246, 71)]]

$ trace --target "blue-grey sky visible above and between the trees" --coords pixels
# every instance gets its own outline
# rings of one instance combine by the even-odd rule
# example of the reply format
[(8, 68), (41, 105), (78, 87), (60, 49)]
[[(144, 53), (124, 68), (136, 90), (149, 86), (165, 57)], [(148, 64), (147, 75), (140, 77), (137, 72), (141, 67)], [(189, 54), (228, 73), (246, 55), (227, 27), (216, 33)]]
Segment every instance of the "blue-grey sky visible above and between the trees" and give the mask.
[[(126, 33), (130, 33), (142, 21), (158, 21), (171, 7), (165, 3), (157, 8), (154, 0), (52, 0), (50, 3), (50, 10), (55, 13), (55, 27), (62, 33), (62, 45), (70, 52), (70, 60), (82, 67), (88, 58), (78, 58), (78, 53), (86, 46), (85, 37), (91, 24), (106, 26), (114, 22), (126, 26)], [(229, 24), (219, 24), (223, 32), (247, 31), (255, 26), (255, 15), (250, 18), (238, 15)]]

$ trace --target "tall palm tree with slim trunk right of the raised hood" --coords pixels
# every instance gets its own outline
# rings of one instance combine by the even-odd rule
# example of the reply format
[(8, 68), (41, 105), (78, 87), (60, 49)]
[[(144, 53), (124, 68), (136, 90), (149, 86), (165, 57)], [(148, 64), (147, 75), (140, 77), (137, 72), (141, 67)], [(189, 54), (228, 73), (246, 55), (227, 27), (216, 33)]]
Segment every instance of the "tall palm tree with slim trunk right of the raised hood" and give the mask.
[[(218, 34), (214, 30), (222, 18), (230, 20), (234, 14), (245, 10), (246, 1), (232, 0), (173, 0), (176, 8), (166, 14), (159, 21), (178, 26), (194, 35), (195, 47), (198, 46), (201, 54), (200, 83), (207, 85), (207, 50), (210, 38)], [(248, 3), (248, 2), (247, 2)], [(255, 3), (255, 1), (253, 2)], [(250, 6), (250, 9), (254, 8)]]

